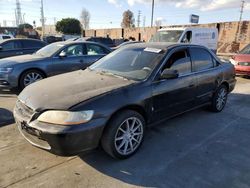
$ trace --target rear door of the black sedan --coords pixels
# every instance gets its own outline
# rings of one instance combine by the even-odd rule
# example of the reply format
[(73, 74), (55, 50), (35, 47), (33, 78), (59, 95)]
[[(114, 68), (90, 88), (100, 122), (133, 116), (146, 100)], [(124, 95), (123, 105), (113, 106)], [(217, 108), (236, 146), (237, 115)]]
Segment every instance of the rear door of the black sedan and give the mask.
[(197, 104), (209, 102), (222, 79), (222, 73), (211, 53), (205, 48), (190, 47), (193, 72), (197, 78)]

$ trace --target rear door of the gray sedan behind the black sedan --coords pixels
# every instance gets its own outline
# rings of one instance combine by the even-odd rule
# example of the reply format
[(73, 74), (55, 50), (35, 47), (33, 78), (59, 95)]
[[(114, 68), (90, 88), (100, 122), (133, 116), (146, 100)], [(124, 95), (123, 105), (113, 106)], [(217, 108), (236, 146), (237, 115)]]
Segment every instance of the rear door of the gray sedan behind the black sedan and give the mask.
[(86, 43), (86, 55), (84, 62), (91, 65), (109, 53), (109, 51), (101, 45), (94, 43)]

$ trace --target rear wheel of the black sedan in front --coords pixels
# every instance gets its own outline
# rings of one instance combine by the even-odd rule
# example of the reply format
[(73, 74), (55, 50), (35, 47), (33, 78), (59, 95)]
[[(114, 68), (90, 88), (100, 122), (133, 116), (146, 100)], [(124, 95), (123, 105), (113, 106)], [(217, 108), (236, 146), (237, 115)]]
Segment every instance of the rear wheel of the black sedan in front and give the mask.
[(211, 110), (213, 112), (221, 112), (227, 103), (228, 89), (225, 85), (221, 85), (212, 98)]

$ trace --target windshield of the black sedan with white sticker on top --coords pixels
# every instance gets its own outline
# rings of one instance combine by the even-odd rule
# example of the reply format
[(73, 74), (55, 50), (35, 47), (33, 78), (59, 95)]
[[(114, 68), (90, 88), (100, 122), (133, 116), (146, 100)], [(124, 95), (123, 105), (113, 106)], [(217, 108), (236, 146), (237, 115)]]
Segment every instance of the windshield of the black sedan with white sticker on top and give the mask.
[(144, 80), (163, 56), (164, 51), (157, 48), (122, 48), (97, 61), (90, 70), (131, 80)]

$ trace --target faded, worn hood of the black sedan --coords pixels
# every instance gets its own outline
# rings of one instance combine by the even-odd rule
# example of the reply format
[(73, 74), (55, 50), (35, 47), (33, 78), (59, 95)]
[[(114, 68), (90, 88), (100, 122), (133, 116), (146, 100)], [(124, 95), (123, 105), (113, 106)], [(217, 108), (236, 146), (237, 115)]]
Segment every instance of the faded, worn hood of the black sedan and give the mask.
[(26, 87), (19, 100), (36, 111), (70, 107), (135, 81), (86, 69), (47, 78)]

